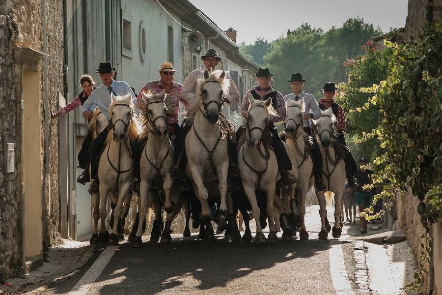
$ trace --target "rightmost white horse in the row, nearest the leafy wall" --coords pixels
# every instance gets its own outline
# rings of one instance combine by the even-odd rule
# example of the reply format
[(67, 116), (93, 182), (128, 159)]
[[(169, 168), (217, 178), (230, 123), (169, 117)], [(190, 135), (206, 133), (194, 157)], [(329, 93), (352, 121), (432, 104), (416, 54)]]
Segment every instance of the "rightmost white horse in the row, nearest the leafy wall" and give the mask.
[[(335, 152), (332, 142), (337, 141), (333, 138), (333, 123), (336, 118), (333, 115), (331, 108), (321, 111), (322, 117), (315, 120), (316, 130), (321, 142), (321, 153), (323, 163), (323, 173), (327, 178), (327, 189), (324, 192), (316, 191), (316, 196), (319, 201), (319, 214), (321, 215), (321, 232), (319, 232), (320, 239), (327, 239), (326, 229), (326, 205), (331, 204), (332, 193), (334, 193), (334, 202), (336, 204), (334, 209), (334, 226), (331, 228), (332, 236), (338, 238), (341, 236), (342, 227), (340, 225), (342, 191), (345, 184), (345, 163), (340, 159)], [(325, 196), (327, 197), (327, 201)]]

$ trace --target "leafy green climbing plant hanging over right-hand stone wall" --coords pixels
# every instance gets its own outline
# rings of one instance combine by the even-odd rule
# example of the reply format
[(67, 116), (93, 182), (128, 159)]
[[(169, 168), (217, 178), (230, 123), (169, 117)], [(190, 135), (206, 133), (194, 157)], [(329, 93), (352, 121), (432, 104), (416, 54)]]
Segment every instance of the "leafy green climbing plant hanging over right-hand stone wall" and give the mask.
[[(389, 76), (364, 91), (379, 106), (381, 123), (376, 136), (383, 153), (374, 161), (373, 182), (384, 185), (383, 195), (411, 189), (423, 227), (442, 218), (442, 21), (426, 23), (420, 39), (397, 45), (385, 42), (391, 61)], [(419, 264), (429, 260), (430, 248), (421, 244)], [(420, 275), (408, 286), (418, 289)]]

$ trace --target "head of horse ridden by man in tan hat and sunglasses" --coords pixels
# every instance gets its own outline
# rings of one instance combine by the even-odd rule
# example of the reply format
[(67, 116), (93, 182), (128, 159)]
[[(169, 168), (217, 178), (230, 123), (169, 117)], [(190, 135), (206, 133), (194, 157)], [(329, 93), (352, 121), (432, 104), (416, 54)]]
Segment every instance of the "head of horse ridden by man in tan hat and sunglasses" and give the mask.
[(147, 124), (149, 128), (153, 128), (155, 134), (164, 138), (167, 134), (166, 129), (166, 104), (165, 99), (167, 97), (166, 90), (158, 94), (141, 92), (141, 95), (146, 102), (146, 110), (143, 111), (143, 115), (146, 116)]

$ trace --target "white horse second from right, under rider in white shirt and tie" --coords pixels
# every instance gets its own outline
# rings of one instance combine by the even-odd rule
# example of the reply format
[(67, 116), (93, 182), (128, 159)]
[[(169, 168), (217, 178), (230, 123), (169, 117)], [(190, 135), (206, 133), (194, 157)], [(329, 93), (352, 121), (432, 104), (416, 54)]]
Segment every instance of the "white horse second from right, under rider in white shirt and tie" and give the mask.
[[(300, 227), (299, 237), (302, 240), (308, 239), (308, 233), (305, 229), (304, 216), (305, 216), (305, 201), (307, 198), (307, 192), (314, 183), (313, 161), (308, 153), (308, 148), (305, 145), (304, 136), (306, 136), (304, 126), (304, 103), (302, 100), (295, 101), (289, 99), (286, 104), (287, 115), (285, 117), (285, 135), (286, 143), (288, 146), (287, 151), (291, 151), (295, 154), (295, 162), (298, 168), (298, 178), (296, 181), (297, 189), (299, 190), (298, 196), (298, 208), (294, 203), (294, 199), (290, 200), (290, 210), (292, 217), (297, 217), (297, 226)], [(296, 212), (299, 210), (299, 212)], [(296, 213), (299, 213), (299, 216)]]

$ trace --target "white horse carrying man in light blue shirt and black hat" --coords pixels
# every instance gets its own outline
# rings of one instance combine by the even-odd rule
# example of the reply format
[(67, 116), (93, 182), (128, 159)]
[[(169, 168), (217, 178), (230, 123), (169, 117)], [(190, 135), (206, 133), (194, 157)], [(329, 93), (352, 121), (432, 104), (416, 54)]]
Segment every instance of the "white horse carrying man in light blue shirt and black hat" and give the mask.
[[(129, 211), (129, 185), (134, 175), (132, 143), (137, 138), (141, 125), (135, 116), (132, 97), (111, 94), (109, 116), (113, 124), (112, 132), (106, 139), (104, 151), (100, 157), (98, 176), (100, 178), (100, 235), (106, 235), (106, 203), (111, 197), (113, 209), (113, 226), (109, 243), (118, 245), (117, 229), (120, 219)], [(123, 208), (124, 204), (124, 208)], [(123, 214), (122, 214), (123, 213)]]

